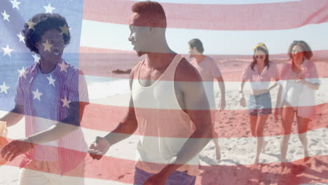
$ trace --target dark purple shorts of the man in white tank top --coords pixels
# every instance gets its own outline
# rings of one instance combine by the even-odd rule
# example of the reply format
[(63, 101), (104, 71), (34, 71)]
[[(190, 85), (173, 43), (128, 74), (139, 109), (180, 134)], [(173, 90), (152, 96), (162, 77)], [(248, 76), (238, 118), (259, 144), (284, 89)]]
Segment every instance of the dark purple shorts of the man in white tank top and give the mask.
[[(135, 182), (133, 184), (139, 185), (149, 179), (153, 174), (145, 172), (139, 168), (135, 168)], [(194, 185), (196, 183), (196, 176), (191, 176), (187, 172), (175, 171), (170, 174), (170, 177), (166, 180), (165, 185)]]

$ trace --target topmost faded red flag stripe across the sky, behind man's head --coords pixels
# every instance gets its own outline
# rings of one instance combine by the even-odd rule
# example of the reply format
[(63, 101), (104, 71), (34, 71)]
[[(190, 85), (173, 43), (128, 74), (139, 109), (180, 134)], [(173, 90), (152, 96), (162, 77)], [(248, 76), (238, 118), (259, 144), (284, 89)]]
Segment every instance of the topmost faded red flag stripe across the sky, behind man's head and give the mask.
[[(84, 1), (83, 19), (128, 25), (136, 1)], [(271, 4), (162, 4), (168, 27), (217, 30), (292, 29), (327, 22), (328, 1)]]

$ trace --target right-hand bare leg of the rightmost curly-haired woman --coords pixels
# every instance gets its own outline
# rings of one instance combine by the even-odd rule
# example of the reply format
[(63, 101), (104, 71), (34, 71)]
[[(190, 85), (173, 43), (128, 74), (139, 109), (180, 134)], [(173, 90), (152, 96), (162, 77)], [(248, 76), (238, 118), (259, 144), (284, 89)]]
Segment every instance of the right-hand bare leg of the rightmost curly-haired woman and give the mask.
[(297, 129), (299, 132), (299, 140), (303, 146), (304, 162), (308, 160), (308, 138), (306, 137), (308, 122), (310, 122), (310, 119), (297, 116)]

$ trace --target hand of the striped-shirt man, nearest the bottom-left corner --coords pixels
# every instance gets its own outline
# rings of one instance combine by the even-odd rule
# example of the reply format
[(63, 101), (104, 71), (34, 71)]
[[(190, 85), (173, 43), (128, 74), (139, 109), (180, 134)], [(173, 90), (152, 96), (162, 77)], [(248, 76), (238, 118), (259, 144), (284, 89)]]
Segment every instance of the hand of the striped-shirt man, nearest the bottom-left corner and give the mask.
[(18, 139), (10, 142), (4, 146), (4, 149), (1, 150), (2, 158), (12, 161), (14, 158), (19, 156), (22, 153), (29, 151), (33, 148), (32, 142), (28, 139)]

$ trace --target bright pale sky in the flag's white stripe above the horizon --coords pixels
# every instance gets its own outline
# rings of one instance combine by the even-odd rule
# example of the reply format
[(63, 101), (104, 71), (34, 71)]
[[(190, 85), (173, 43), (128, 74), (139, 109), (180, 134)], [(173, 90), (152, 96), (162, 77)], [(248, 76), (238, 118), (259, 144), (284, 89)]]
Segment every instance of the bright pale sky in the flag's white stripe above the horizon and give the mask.
[[(125, 0), (122, 0), (125, 1)], [(138, 0), (139, 1), (139, 0)], [(289, 0), (294, 1), (294, 0)], [(280, 3), (282, 0), (158, 0), (158, 2), (182, 4), (259, 4)], [(128, 20), (127, 20), (128, 22)], [(93, 34), (97, 30), (97, 34)], [(221, 31), (202, 29), (174, 29), (166, 32), (169, 46), (177, 53), (187, 53), (188, 41), (194, 38), (203, 41), (206, 55), (252, 55), (252, 47), (266, 43), (271, 54), (287, 53), (294, 40), (306, 41), (313, 50), (328, 49), (328, 23), (306, 25), (295, 29)], [(128, 41), (128, 25), (83, 20), (81, 46), (132, 50)]]

